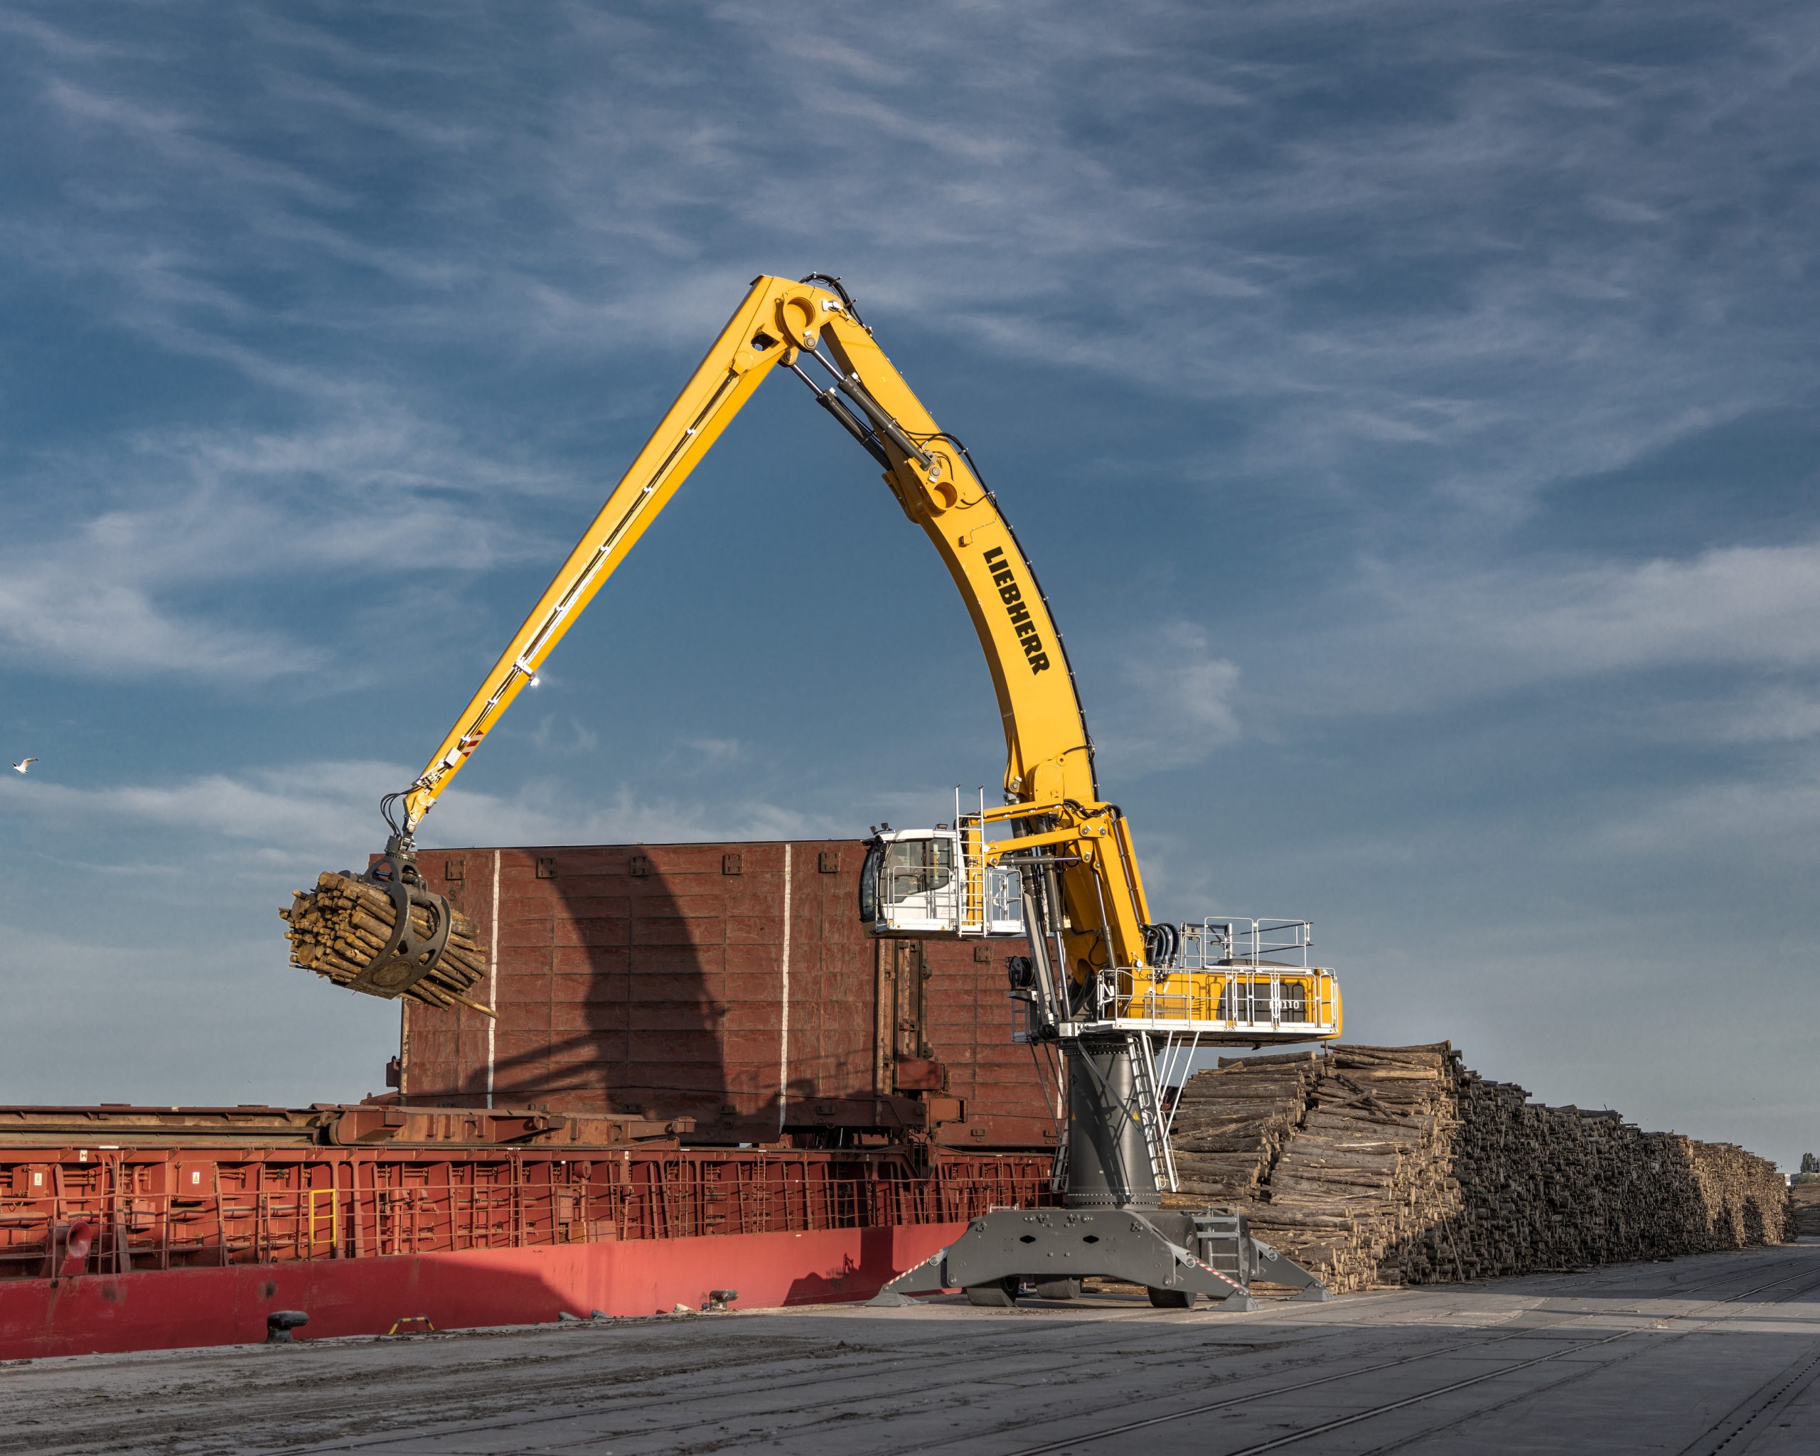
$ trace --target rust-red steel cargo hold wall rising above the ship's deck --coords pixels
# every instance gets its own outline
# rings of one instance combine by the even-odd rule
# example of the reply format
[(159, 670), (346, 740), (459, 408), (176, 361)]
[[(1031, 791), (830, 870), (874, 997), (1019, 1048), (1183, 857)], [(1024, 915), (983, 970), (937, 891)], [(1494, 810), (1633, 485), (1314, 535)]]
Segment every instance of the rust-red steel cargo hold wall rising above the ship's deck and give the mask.
[(693, 1143), (1046, 1148), (1052, 1054), (1010, 1039), (1023, 941), (881, 941), (854, 839), (424, 850), (499, 1012), (406, 1003), (408, 1105), (692, 1117)]

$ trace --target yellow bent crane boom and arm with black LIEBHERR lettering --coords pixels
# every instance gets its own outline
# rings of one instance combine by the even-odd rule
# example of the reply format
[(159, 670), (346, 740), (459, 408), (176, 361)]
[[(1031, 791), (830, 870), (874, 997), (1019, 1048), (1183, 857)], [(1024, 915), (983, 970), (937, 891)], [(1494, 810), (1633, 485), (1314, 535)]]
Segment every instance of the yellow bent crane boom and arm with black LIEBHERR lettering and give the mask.
[[(826, 382), (817, 384), (804, 364), (819, 366)], [(961, 590), (1005, 728), (1010, 808), (997, 817), (1026, 826), (1041, 823), (1041, 832), (1085, 846), (1088, 863), (1096, 855), (1105, 859), (1099, 883), (1059, 877), (1070, 923), (1107, 921), (1105, 943), (1097, 928), (1065, 932), (1068, 974), (1081, 981), (1096, 966), (1145, 965), (1148, 906), (1138, 861), (1123, 817), (1099, 803), (1094, 744), (1036, 571), (966, 450), (915, 397), (837, 282), (830, 289), (777, 277), (753, 280), (424, 772), (395, 795), (404, 804), (397, 828), (408, 843), (581, 610), (779, 366), (808, 382), (823, 408), (885, 466), (885, 484), (934, 542)], [(994, 846), (994, 857), (1037, 846), (1026, 834)], [(1103, 914), (1096, 914), (1101, 903)]]

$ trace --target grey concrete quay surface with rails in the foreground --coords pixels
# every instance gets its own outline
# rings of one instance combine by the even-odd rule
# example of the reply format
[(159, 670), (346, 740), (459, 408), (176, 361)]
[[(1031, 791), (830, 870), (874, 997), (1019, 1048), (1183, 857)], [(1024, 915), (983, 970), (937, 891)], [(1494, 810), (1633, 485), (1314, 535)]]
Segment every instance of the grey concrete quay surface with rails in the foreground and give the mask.
[(1101, 1294), (0, 1367), (0, 1452), (1820, 1452), (1820, 1239), (1254, 1314)]

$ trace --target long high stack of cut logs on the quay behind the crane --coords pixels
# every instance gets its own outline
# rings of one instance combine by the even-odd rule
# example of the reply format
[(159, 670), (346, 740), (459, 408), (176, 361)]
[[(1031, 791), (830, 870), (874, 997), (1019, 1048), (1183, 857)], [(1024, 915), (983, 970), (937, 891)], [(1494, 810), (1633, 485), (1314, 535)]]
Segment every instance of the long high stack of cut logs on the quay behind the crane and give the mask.
[(1451, 1045), (1221, 1057), (1178, 1097), (1176, 1207), (1223, 1203), (1334, 1290), (1793, 1238), (1774, 1163), (1540, 1107)]

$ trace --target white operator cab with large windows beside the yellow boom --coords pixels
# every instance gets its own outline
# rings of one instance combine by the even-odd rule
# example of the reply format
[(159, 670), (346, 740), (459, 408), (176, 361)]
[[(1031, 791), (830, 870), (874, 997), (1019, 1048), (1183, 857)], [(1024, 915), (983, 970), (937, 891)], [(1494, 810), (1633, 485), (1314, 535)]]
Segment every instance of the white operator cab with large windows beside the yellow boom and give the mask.
[(968, 843), (977, 850), (977, 832), (881, 824), (859, 872), (866, 928), (874, 935), (1021, 935), (1017, 872), (979, 864)]

